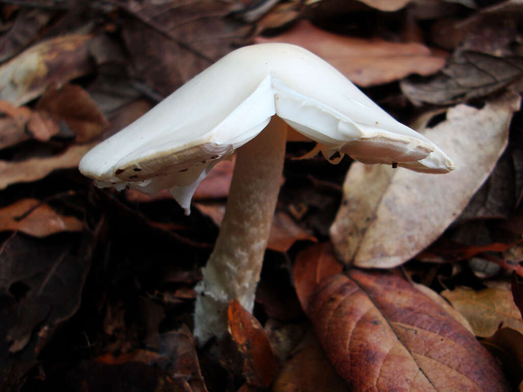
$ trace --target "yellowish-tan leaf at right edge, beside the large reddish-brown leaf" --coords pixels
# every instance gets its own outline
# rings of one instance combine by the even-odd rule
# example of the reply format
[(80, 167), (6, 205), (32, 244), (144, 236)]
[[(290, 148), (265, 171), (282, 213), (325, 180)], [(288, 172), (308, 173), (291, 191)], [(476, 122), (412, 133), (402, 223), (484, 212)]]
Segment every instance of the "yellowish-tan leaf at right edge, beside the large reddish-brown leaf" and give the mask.
[(456, 287), (452, 291), (442, 291), (441, 295), (469, 320), (476, 336), (492, 336), (500, 326), (523, 332), (521, 313), (509, 287), (488, 287), (478, 291)]

